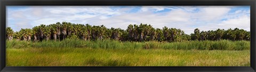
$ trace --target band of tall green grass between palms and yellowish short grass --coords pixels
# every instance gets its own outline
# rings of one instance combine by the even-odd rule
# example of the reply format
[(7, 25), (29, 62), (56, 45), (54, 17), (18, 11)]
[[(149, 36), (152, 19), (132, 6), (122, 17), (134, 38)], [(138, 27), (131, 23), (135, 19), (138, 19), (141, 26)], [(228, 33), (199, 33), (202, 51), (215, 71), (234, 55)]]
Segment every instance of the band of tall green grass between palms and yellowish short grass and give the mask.
[(81, 39), (65, 39), (63, 41), (6, 41), (7, 49), (42, 47), (88, 47), (92, 49), (172, 49), (172, 50), (250, 50), (250, 41), (186, 41), (186, 42), (121, 42), (110, 39), (83, 41)]

